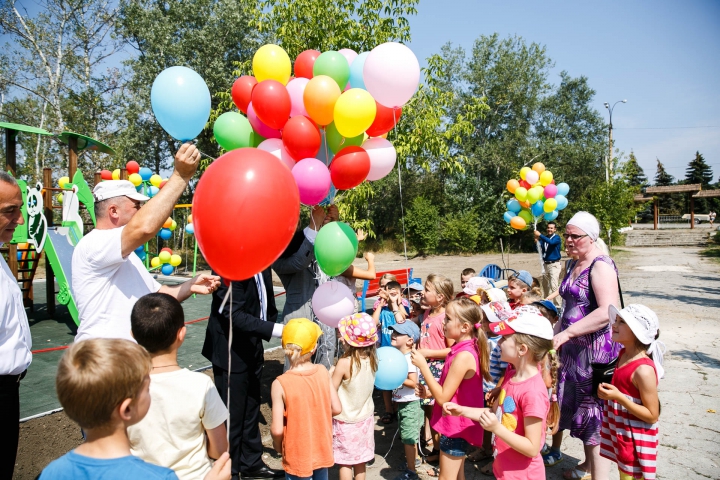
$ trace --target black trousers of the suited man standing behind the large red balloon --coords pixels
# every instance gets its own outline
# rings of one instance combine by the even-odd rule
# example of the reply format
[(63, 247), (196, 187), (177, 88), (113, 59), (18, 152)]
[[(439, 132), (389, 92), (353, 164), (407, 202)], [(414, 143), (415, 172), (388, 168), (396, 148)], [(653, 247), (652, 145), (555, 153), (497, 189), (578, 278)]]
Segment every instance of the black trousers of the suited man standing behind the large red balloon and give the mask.
[[(247, 473), (264, 465), (260, 437), (260, 380), (263, 361), (243, 373), (230, 374), (230, 405), (227, 404), (228, 371), (213, 365), (215, 388), (230, 412), (230, 459), (232, 474)], [(227, 425), (227, 423), (226, 423)]]

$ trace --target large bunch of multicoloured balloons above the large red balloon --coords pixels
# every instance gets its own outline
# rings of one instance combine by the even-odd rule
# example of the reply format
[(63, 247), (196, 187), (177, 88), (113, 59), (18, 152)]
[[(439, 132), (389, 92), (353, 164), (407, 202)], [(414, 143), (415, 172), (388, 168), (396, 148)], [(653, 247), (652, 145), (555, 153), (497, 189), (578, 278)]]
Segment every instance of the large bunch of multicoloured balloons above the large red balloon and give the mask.
[[(370, 52), (306, 50), (293, 65), (277, 45), (253, 57), (253, 74), (231, 94), (238, 112), (215, 121), (225, 150), (257, 146), (292, 171), (300, 202), (332, 203), (334, 192), (383, 178), (396, 152), (384, 136), (418, 88), (420, 65), (404, 45)], [(329, 198), (330, 197), (330, 198)]]

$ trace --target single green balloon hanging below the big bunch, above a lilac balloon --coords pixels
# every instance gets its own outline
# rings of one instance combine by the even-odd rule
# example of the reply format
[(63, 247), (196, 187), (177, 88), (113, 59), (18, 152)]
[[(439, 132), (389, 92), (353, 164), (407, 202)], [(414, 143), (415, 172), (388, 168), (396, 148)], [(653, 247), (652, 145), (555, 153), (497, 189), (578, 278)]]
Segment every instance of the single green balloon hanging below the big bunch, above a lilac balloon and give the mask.
[(330, 222), (315, 237), (315, 259), (326, 275), (334, 277), (352, 265), (357, 255), (357, 236), (350, 225)]

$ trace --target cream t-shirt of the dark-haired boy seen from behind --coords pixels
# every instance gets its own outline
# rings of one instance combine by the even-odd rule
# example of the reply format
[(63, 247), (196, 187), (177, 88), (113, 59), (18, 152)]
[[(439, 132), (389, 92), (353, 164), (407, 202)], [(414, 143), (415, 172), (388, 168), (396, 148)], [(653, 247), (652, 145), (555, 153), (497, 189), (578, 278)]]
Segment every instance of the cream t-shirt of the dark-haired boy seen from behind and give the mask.
[(210, 471), (205, 430), (227, 420), (227, 409), (210, 377), (183, 368), (150, 375), (150, 410), (128, 428), (130, 451), (175, 471), (181, 480)]

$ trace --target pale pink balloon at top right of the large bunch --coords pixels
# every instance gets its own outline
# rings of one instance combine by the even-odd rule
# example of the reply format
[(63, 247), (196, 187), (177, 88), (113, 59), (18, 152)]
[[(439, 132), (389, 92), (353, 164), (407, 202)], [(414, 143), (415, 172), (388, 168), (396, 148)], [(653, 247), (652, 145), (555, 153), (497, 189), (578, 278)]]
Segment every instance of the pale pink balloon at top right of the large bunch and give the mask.
[(405, 45), (383, 43), (365, 59), (363, 81), (378, 103), (388, 108), (402, 107), (420, 84), (420, 64)]

